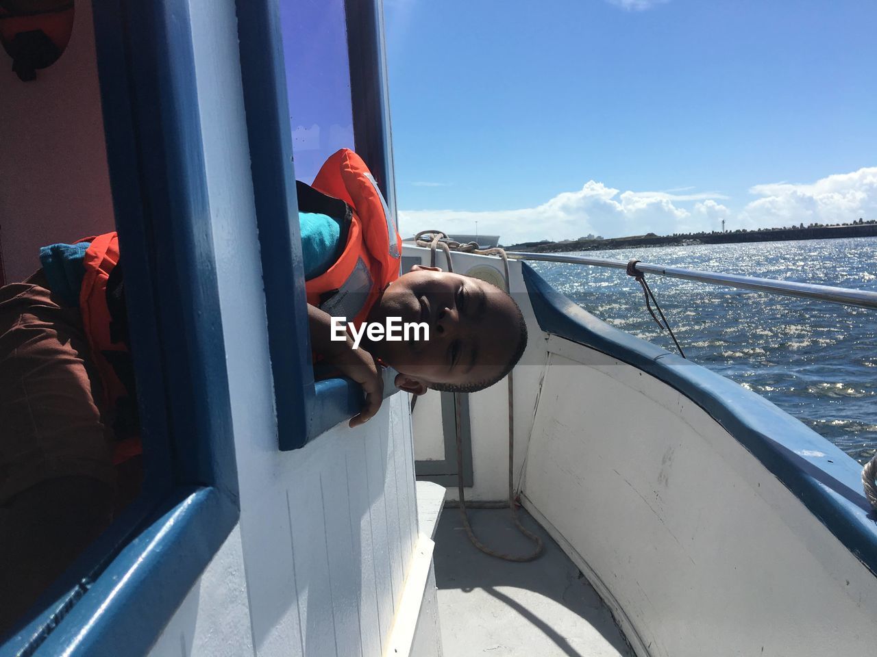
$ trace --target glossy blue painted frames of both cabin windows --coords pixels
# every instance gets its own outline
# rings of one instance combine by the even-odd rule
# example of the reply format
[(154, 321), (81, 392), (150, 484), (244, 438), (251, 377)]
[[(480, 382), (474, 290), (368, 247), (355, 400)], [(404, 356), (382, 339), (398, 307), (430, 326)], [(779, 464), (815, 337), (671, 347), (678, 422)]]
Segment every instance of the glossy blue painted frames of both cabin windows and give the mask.
[[(357, 413), (361, 391), (313, 380), (277, 16), (275, 0), (239, 0), (278, 428), (294, 449)], [(346, 16), (358, 151), (395, 216), (381, 4)], [(239, 519), (188, 0), (103, 0), (94, 21), (146, 483), (0, 657), (146, 653)]]

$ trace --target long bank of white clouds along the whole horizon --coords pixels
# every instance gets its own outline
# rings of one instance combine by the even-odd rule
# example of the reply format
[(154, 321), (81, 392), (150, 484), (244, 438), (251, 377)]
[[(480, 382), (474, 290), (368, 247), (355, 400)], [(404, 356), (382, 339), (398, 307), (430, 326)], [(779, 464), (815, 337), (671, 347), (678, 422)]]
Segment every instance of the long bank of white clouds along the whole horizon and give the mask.
[(697, 230), (789, 226), (797, 223), (840, 223), (877, 218), (877, 167), (831, 175), (806, 185), (786, 182), (757, 185), (760, 198), (738, 211), (718, 201), (717, 192), (624, 191), (588, 180), (581, 189), (564, 192), (534, 208), (508, 210), (402, 210), (403, 237), (418, 230), (498, 234), (503, 244), (539, 239), (567, 239), (595, 233), (604, 237), (667, 235)]

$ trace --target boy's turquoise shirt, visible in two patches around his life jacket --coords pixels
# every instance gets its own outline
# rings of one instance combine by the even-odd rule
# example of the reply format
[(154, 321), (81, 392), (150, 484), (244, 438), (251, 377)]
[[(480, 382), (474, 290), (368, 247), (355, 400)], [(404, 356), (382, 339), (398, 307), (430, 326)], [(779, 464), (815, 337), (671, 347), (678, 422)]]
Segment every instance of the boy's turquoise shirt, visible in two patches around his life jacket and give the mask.
[[(299, 212), (298, 225), (302, 233), (304, 279), (316, 279), (325, 273), (341, 255), (344, 244), (339, 244), (341, 224), (329, 215)], [(89, 242), (79, 244), (49, 244), (39, 250), (39, 262), (49, 282), (49, 289), (61, 298), (65, 306), (79, 306), (79, 290), (85, 276), (83, 260)]]

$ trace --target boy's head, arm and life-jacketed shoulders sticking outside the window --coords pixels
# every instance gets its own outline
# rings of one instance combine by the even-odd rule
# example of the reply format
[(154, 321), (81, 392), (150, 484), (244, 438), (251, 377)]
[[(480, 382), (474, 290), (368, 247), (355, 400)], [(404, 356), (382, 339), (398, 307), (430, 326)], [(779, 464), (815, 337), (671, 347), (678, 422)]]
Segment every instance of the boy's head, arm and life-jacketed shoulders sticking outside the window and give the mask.
[[(367, 421), (381, 406), (375, 358), (399, 372), (397, 387), (414, 394), (428, 388), (475, 392), (496, 383), (517, 363), (526, 346), (526, 325), (508, 294), (435, 267), (416, 265), (398, 277), (402, 240), (374, 178), (354, 152), (342, 149), (332, 155), (313, 187), (299, 183), (298, 201), (300, 212), (328, 215), (339, 226), (337, 244), (343, 247), (330, 258), (333, 264), (313, 278), (305, 272), (305, 278), (314, 350), (366, 393), (351, 427)], [(305, 260), (320, 251), (307, 228), (302, 241)], [(331, 240), (317, 243), (326, 251)], [(362, 348), (354, 349), (351, 340), (337, 343), (329, 338), (333, 315), (356, 324), (386, 326), (390, 317), (424, 322), (430, 339), (366, 339)]]

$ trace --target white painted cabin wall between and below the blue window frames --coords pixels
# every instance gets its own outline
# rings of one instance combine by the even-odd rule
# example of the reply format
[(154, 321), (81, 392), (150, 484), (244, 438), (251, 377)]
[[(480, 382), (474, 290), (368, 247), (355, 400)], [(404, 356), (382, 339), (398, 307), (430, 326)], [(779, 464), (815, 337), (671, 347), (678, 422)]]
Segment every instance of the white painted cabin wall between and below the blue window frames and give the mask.
[[(212, 645), (225, 652), (204, 654), (380, 655), (417, 537), (407, 399), (386, 399), (363, 427), (342, 424), (303, 449), (277, 449), (235, 6), (191, 0), (190, 11), (252, 637), (216, 627)], [(215, 576), (211, 563), (202, 582)], [(208, 613), (193, 595), (173, 632)], [(210, 604), (235, 601), (217, 590)]]

